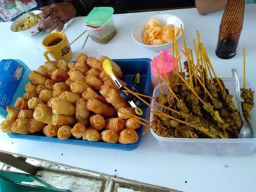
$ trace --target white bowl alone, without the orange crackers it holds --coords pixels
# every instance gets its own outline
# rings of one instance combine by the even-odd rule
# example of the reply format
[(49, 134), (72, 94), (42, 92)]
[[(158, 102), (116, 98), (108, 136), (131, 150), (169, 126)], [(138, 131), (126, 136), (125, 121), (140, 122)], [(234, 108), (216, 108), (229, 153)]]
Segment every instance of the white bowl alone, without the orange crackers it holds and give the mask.
[[(160, 21), (161, 23), (163, 23), (163, 25), (173, 24), (175, 27), (181, 27), (181, 25), (182, 25), (183, 29), (184, 29), (184, 23), (183, 23), (183, 21), (181, 21), (181, 19), (179, 19), (179, 17), (177, 17), (175, 15), (159, 14), (159, 15), (152, 15), (150, 17), (146, 17), (145, 19), (141, 19), (133, 27), (131, 36), (133, 37), (133, 40), (136, 43), (149, 49), (149, 51), (160, 52), (162, 49), (167, 49), (167, 48), (171, 47), (172, 41), (170, 41), (169, 43), (162, 44), (162, 45), (146, 45), (145, 43), (143, 43), (143, 35), (145, 33), (145, 23), (147, 23), (147, 21), (149, 21), (150, 19), (153, 19), (153, 18), (155, 18), (158, 21)], [(179, 37), (181, 37), (181, 33), (179, 33), (179, 36), (177, 37), (177, 39), (179, 39)]]

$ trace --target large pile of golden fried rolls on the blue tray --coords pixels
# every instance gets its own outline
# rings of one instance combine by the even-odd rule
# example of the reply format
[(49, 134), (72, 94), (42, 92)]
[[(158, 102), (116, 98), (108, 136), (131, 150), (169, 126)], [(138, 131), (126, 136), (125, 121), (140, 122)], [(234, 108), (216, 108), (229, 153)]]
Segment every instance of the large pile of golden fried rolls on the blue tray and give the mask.
[[(23, 97), (17, 98), (16, 108), (7, 107), (8, 115), (1, 123), (1, 130), (21, 134), (42, 132), (59, 139), (137, 142), (139, 136), (135, 130), (140, 124), (129, 116), (135, 115), (135, 111), (103, 71), (104, 59), (109, 58), (96, 59), (80, 53), (76, 63), (46, 62), (32, 71), (31, 82), (25, 86)], [(121, 78), (121, 68), (114, 61), (111, 65), (115, 76)]]

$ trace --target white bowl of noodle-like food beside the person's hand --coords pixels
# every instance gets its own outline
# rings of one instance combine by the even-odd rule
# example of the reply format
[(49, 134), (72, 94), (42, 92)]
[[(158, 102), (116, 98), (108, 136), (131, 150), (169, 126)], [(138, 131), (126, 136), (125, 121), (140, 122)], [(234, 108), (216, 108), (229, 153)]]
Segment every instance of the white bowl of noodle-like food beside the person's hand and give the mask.
[(39, 17), (40, 13), (42, 13), (42, 11), (35, 10), (21, 15), (11, 24), (11, 31), (29, 38), (37, 37), (37, 35), (43, 31), (43, 29), (39, 27), (40, 23), (43, 21), (43, 19)]

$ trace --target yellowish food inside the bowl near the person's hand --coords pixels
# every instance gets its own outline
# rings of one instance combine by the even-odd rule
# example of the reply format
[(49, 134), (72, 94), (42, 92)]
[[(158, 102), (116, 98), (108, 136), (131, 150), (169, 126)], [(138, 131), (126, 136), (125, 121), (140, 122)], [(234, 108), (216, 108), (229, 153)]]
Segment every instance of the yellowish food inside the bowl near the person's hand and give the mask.
[(16, 31), (24, 31), (35, 26), (40, 21), (41, 21), (41, 18), (39, 17), (39, 15), (35, 15), (31, 13), (24, 19), (24, 21), (18, 23), (15, 29)]

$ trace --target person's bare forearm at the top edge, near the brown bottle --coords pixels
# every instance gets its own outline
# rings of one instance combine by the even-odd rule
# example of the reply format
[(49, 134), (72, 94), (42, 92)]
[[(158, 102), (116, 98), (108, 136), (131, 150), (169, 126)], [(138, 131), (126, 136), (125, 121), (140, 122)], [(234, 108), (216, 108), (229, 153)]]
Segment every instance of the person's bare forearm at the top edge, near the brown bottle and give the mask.
[(201, 15), (221, 11), (225, 8), (227, 0), (195, 0), (195, 7)]

